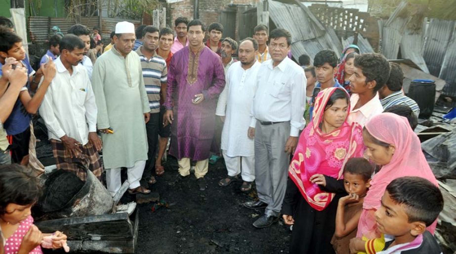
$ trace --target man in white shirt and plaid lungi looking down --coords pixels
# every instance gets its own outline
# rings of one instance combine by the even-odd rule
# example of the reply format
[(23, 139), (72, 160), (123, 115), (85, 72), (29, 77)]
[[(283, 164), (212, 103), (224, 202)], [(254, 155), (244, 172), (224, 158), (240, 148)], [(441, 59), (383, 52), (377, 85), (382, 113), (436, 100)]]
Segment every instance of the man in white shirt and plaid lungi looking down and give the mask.
[(66, 35), (60, 42), (61, 55), (55, 60), (56, 74), (40, 107), (48, 130), (57, 168), (73, 171), (81, 180), (86, 173), (78, 164), (101, 179), (101, 140), (96, 134), (97, 107), (83, 59), (84, 42)]

